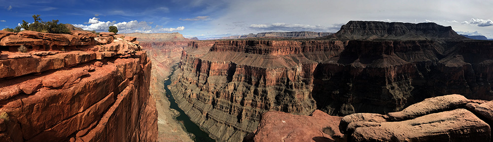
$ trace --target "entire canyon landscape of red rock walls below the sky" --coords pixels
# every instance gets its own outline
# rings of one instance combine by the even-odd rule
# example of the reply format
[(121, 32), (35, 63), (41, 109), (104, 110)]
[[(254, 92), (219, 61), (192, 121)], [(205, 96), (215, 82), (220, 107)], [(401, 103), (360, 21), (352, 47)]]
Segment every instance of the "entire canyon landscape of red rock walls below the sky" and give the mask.
[(199, 141), (179, 115), (218, 142), (491, 141), (493, 41), (452, 27), (71, 32), (0, 31), (1, 141)]

